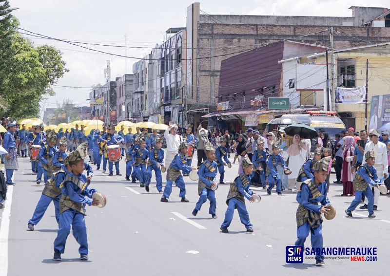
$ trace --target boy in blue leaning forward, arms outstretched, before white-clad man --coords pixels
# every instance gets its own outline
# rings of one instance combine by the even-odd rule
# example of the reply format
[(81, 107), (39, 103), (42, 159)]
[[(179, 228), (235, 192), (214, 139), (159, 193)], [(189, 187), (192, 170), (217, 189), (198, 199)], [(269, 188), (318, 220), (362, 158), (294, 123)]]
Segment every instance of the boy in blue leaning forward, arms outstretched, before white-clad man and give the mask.
[(184, 183), (183, 176), (180, 172), (180, 170), (182, 170), (183, 173), (189, 173), (196, 169), (195, 167), (187, 165), (185, 156), (187, 150), (187, 144), (185, 142), (181, 143), (178, 154), (175, 155), (174, 160), (171, 162), (171, 165), (169, 165), (167, 170), (167, 184), (165, 185), (161, 202), (168, 202), (168, 198), (172, 193), (172, 184), (174, 181), (176, 186), (180, 189), (179, 197), (181, 197), (181, 202), (190, 202), (186, 199), (186, 184)]

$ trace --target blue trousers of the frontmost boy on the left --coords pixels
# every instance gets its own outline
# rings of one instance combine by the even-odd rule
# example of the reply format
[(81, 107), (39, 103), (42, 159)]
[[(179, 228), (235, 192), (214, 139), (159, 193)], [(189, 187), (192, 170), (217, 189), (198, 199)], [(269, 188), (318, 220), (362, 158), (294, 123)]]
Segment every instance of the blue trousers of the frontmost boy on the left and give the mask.
[(85, 226), (84, 215), (72, 209), (68, 209), (59, 215), (59, 229), (54, 241), (54, 252), (64, 253), (70, 225), (72, 225), (73, 237), (80, 245), (78, 253), (88, 255), (87, 227)]

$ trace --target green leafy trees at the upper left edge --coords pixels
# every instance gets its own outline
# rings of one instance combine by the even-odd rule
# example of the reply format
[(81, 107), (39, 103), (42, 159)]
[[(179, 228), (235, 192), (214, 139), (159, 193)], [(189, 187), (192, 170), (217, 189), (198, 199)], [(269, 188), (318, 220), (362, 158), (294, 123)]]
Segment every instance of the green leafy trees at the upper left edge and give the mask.
[(0, 0), (0, 16), (0, 113), (36, 117), (39, 101), (55, 94), (50, 85), (68, 72), (62, 53), (48, 45), (35, 48), (16, 33), (19, 21), (6, 0)]

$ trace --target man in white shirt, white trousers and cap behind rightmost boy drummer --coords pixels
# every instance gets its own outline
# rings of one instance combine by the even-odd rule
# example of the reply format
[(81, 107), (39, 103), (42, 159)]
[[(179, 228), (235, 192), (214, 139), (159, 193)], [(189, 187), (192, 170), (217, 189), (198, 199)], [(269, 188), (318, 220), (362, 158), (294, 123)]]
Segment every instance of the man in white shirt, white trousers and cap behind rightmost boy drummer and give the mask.
[[(371, 142), (368, 142), (366, 144), (366, 147), (364, 148), (364, 155), (363, 155), (363, 162), (362, 165), (366, 164), (366, 153), (373, 148), (375, 153), (375, 164), (374, 167), (376, 169), (376, 174), (378, 175), (378, 178), (381, 178), (385, 176), (387, 177), (387, 172), (389, 168), (389, 162), (387, 159), (387, 150), (385, 143), (379, 142), (379, 133), (376, 131), (376, 129), (371, 129), (369, 134)], [(377, 187), (373, 187), (374, 192), (374, 210), (378, 208), (378, 201), (380, 196), (380, 190)], [(367, 209), (368, 208), (368, 201), (367, 198), (364, 200), (364, 205), (360, 207), (360, 209)]]

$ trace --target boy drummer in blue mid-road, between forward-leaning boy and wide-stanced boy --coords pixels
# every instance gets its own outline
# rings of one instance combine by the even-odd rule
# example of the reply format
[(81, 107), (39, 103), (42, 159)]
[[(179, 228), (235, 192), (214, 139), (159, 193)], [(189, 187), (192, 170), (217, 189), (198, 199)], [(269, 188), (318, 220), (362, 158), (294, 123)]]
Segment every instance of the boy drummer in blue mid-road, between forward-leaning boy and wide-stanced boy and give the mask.
[(209, 142), (204, 146), (207, 159), (203, 161), (198, 170), (198, 194), (199, 200), (196, 202), (195, 209), (192, 211), (193, 216), (196, 216), (203, 203), (210, 201), (209, 214), (213, 219), (216, 219), (216, 200), (215, 200), (215, 189), (217, 188), (216, 184), (216, 174), (217, 174), (217, 165), (214, 161), (215, 159), (215, 148)]

